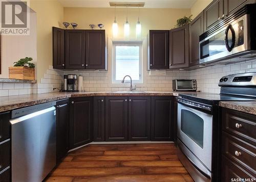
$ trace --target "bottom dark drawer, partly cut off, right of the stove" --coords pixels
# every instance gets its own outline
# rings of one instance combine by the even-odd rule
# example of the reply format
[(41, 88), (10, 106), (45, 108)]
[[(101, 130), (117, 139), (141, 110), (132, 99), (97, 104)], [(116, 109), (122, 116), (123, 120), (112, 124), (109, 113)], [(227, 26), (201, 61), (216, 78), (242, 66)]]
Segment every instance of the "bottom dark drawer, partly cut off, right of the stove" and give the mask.
[(221, 181), (230, 182), (230, 181), (245, 181), (242, 179), (247, 179), (246, 181), (253, 181), (253, 176), (255, 173), (243, 169), (238, 164), (228, 160), (225, 155), (222, 155), (221, 163)]

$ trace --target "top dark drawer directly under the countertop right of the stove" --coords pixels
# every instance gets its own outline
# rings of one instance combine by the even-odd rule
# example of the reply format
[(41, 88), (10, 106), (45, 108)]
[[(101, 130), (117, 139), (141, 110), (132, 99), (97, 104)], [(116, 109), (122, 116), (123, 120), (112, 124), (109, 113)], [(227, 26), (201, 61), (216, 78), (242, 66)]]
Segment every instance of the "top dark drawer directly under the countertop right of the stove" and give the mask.
[(252, 145), (256, 144), (256, 117), (230, 109), (222, 109), (222, 129)]

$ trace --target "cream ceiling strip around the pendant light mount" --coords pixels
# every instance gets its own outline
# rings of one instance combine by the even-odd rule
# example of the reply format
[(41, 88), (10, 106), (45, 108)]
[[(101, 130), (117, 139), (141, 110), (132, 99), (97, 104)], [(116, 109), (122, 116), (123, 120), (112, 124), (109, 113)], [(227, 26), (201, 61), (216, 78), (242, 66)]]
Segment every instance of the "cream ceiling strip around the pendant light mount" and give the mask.
[(110, 8), (110, 2), (144, 2), (144, 8), (191, 8), (196, 0), (58, 0), (63, 7)]

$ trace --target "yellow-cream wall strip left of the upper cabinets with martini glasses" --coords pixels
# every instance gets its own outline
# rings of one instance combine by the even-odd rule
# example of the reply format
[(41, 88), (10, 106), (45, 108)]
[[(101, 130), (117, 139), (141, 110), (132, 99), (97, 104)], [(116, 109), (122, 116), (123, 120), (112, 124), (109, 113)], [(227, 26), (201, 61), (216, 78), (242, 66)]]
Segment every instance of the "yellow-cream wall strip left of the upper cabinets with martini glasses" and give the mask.
[(63, 7), (57, 0), (30, 0), (37, 14), (37, 79), (52, 65), (52, 27), (63, 22)]

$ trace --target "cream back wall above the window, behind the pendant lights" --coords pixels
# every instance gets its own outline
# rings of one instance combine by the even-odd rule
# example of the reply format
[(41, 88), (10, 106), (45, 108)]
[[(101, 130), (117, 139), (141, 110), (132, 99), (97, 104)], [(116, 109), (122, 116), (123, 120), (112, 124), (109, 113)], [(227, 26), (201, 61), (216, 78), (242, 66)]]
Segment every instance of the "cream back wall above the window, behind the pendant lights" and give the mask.
[[(64, 20), (78, 23), (77, 29), (90, 29), (89, 24), (105, 25), (106, 34), (112, 36), (112, 23), (114, 21), (114, 8), (64, 8)], [(142, 36), (148, 30), (172, 29), (176, 20), (184, 15), (188, 16), (190, 9), (140, 9), (140, 22)], [(123, 38), (123, 24), (126, 18), (126, 8), (116, 8), (116, 18), (119, 25), (119, 38)], [(135, 28), (138, 19), (138, 8), (128, 9), (130, 22), (130, 38), (135, 38)], [(72, 29), (72, 27), (69, 27)], [(99, 29), (98, 27), (96, 29)]]

